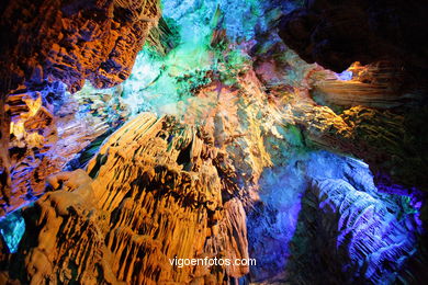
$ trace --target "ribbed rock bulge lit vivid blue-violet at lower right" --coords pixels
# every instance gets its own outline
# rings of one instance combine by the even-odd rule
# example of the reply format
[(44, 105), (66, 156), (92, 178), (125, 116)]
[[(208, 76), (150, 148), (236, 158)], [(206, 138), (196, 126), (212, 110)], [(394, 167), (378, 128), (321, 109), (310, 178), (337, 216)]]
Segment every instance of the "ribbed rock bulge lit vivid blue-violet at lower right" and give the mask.
[[(396, 276), (390, 280), (392, 273), (399, 272), (403, 263), (416, 252), (412, 226), (407, 228), (399, 223), (379, 197), (357, 191), (343, 180), (314, 181), (311, 191), (313, 196), (308, 194), (303, 202), (303, 215), (311, 220), (307, 227), (316, 232), (304, 235), (316, 240), (319, 266), (333, 260), (341, 264), (336, 266), (340, 273), (330, 273), (336, 276), (331, 282), (337, 282), (340, 275), (343, 281), (372, 284), (395, 280)], [(314, 204), (317, 207), (309, 214), (306, 207)], [(318, 215), (314, 215), (315, 212)], [(317, 266), (315, 262), (311, 264)]]

